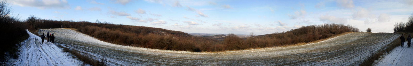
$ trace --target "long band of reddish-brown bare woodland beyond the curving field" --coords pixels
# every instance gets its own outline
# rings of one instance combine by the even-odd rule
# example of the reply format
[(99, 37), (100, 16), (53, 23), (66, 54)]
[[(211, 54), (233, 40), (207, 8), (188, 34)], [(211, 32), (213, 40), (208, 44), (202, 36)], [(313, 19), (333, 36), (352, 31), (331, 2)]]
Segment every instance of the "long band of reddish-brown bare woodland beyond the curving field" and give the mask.
[(359, 32), (356, 27), (343, 24), (322, 24), (302, 26), (287, 32), (253, 36), (241, 39), (235, 34), (228, 34), (223, 41), (205, 37), (192, 36), (188, 33), (165, 30), (154, 27), (116, 25), (109, 22), (95, 23), (87, 21), (38, 19), (33, 23), (38, 28), (76, 28), (78, 32), (88, 34), (101, 41), (123, 46), (178, 50), (192, 52), (220, 52), (225, 50), (244, 50), (249, 48), (266, 48), (274, 46), (294, 45), (326, 39), (344, 32)]

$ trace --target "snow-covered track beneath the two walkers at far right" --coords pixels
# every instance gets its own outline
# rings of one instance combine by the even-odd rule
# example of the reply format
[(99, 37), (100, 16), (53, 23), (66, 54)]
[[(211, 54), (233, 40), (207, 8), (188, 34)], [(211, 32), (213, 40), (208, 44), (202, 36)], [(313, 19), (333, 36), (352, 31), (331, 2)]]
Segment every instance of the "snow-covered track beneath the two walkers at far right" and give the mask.
[(404, 43), (404, 47), (394, 48), (389, 54), (377, 61), (375, 66), (413, 66), (413, 48), (406, 46), (407, 42)]

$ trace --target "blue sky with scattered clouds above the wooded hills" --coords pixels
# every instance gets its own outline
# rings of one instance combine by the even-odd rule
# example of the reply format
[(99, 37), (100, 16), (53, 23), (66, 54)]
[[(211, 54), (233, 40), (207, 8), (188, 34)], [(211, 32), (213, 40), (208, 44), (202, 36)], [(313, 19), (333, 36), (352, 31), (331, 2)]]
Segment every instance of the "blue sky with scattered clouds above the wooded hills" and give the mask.
[(285, 32), (336, 23), (366, 32), (394, 32), (413, 0), (7, 0), (20, 20), (107, 21), (188, 33)]

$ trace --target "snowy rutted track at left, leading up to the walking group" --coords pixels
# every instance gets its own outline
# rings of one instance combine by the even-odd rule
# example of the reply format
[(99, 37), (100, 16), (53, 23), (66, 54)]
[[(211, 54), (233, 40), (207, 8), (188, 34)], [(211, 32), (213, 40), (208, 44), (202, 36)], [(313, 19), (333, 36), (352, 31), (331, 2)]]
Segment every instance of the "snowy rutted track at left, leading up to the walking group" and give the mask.
[[(27, 31), (27, 30), (26, 30)], [(80, 66), (83, 61), (72, 58), (68, 52), (63, 52), (45, 40), (41, 43), (39, 36), (27, 31), (29, 38), (19, 45), (19, 58), (10, 59), (8, 64), (13, 66)]]

